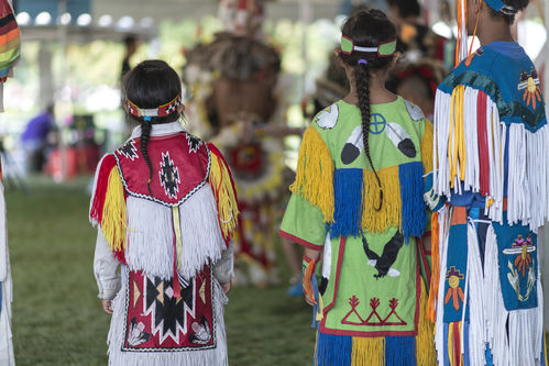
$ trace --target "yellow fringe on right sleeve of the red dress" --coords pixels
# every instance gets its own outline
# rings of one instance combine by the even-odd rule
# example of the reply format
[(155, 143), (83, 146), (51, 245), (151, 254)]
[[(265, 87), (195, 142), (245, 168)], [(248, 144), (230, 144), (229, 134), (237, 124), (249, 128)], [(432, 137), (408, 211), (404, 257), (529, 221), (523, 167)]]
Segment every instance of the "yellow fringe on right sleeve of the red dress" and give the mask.
[(223, 237), (230, 236), (238, 223), (239, 204), (232, 189), (231, 176), (228, 167), (216, 155), (211, 154), (210, 185), (218, 203), (219, 223)]

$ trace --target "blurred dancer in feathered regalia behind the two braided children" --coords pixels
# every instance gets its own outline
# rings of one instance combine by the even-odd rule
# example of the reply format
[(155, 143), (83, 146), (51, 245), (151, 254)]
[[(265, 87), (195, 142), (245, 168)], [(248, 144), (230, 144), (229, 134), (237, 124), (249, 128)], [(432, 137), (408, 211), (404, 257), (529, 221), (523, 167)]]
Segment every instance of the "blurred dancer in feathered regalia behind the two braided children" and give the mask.
[(277, 51), (262, 36), (263, 2), (220, 2), (224, 32), (187, 54), (193, 91), (190, 129), (223, 152), (234, 177), (241, 215), (234, 235), (235, 282), (277, 282), (276, 225), (289, 169), (283, 137), (286, 88)]

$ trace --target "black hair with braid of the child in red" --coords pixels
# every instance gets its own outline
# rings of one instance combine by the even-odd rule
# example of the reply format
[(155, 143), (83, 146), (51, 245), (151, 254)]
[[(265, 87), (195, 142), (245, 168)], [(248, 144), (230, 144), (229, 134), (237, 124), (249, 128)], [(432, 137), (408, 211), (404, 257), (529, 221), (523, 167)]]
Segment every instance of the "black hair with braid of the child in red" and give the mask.
[[(171, 102), (180, 93), (182, 84), (179, 76), (168, 64), (160, 59), (142, 62), (124, 76), (124, 99), (141, 109), (158, 108)], [(179, 115), (179, 112), (175, 110), (166, 117), (153, 117), (151, 121), (145, 121), (142, 117), (135, 117), (127, 112), (129, 121), (141, 125), (141, 153), (149, 167), (149, 193), (151, 193), (151, 178), (153, 176), (153, 167), (147, 153), (152, 125), (174, 122)]]

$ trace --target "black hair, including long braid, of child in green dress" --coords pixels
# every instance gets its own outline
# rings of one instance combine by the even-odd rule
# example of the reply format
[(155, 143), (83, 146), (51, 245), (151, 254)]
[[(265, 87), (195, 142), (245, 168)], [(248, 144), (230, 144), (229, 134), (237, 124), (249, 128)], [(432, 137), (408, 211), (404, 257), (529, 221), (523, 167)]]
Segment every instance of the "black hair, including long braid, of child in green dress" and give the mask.
[[(351, 38), (355, 46), (377, 47), (380, 44), (396, 40), (395, 25), (381, 10), (359, 11), (351, 15), (341, 30), (344, 36)], [(393, 57), (380, 57), (377, 53), (353, 51), (350, 55), (340, 53), (341, 59), (354, 68), (354, 82), (359, 97), (359, 108), (362, 115), (362, 141), (367, 162), (374, 171), (380, 186), (380, 206), (383, 204), (383, 190), (380, 177), (370, 155), (370, 79), (371, 70), (386, 69)]]

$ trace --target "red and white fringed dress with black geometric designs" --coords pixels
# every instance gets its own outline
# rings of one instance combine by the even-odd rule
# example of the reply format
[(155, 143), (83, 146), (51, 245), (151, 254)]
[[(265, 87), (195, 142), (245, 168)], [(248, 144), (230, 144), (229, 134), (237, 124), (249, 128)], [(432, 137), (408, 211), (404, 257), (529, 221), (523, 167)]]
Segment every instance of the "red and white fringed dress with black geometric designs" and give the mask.
[(109, 364), (227, 365), (220, 284), (232, 276), (238, 218), (229, 168), (178, 122), (153, 125), (149, 189), (140, 135), (101, 159), (90, 203), (99, 297), (114, 312)]

